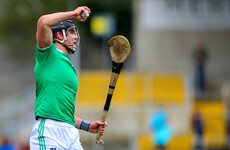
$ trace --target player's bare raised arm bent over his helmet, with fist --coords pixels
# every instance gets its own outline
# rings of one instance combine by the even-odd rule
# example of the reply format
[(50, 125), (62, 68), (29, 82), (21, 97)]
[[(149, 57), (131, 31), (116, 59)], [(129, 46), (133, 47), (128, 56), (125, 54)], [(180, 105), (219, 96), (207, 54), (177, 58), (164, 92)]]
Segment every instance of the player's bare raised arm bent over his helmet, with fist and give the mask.
[(53, 41), (53, 35), (51, 28), (55, 24), (69, 19), (74, 19), (80, 22), (85, 22), (86, 18), (81, 17), (81, 12), (86, 10), (91, 13), (90, 9), (86, 6), (78, 7), (74, 11), (58, 12), (41, 16), (37, 22), (36, 40), (39, 48), (46, 48), (51, 45)]

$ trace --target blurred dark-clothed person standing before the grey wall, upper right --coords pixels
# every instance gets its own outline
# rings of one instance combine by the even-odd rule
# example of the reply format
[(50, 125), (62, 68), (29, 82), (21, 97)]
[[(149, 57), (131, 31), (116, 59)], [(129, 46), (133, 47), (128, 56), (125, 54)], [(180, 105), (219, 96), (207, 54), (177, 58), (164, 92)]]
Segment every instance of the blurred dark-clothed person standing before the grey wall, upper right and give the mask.
[(205, 43), (202, 40), (197, 41), (194, 50), (194, 61), (195, 61), (195, 86), (196, 96), (200, 97), (206, 90), (206, 74), (205, 74), (205, 63), (207, 59), (207, 50)]

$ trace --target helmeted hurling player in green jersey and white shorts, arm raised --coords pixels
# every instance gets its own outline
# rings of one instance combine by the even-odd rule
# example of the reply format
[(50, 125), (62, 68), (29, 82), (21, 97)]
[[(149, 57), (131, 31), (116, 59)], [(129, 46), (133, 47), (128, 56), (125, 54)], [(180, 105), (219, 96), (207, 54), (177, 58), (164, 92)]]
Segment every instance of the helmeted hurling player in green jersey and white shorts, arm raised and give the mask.
[[(37, 22), (35, 117), (30, 136), (31, 150), (82, 150), (82, 129), (104, 134), (107, 123), (88, 122), (74, 116), (78, 88), (76, 71), (68, 55), (79, 45), (78, 30), (70, 19), (85, 22), (81, 13), (91, 13), (86, 6), (74, 11), (41, 16)], [(77, 129), (76, 129), (77, 128)]]

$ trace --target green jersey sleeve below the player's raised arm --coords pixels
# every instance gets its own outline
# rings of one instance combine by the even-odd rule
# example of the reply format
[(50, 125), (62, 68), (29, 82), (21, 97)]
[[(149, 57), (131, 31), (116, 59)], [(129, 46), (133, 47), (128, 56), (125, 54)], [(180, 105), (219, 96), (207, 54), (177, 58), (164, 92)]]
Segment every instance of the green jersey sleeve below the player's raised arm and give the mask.
[(55, 44), (52, 42), (52, 44), (46, 48), (39, 48), (36, 44), (36, 60), (41, 62), (48, 59), (49, 54), (51, 53), (52, 49), (54, 49)]

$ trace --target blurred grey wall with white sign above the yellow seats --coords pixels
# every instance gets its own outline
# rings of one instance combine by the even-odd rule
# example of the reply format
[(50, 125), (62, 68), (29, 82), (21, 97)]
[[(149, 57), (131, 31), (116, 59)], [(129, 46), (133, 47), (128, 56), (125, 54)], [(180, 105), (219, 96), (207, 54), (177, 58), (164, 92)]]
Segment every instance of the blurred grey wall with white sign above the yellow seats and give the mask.
[(207, 84), (220, 94), (218, 89), (229, 80), (229, 1), (145, 0), (134, 4), (137, 70), (193, 75), (194, 50), (202, 40), (208, 53)]

